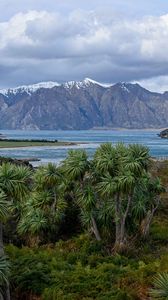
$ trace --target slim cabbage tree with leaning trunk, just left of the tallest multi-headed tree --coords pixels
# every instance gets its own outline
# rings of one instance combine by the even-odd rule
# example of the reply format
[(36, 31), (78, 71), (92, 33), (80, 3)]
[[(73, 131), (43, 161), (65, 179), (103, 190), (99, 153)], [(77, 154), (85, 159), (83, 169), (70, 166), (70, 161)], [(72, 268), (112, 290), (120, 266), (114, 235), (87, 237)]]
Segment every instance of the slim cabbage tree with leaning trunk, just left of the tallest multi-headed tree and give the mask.
[(91, 184), (91, 162), (84, 150), (71, 150), (62, 165), (69, 181), (74, 182), (76, 203), (81, 210), (81, 221), (89, 227), (96, 239), (101, 240), (96, 222), (96, 194)]

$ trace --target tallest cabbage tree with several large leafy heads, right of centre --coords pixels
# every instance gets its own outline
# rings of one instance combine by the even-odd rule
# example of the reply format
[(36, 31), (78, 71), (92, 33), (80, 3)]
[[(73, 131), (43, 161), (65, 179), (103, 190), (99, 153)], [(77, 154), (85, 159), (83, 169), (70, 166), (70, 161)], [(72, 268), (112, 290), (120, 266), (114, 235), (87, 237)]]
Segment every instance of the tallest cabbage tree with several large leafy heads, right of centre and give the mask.
[(114, 201), (116, 228), (115, 251), (122, 251), (126, 242), (126, 219), (130, 213), (135, 187), (149, 164), (148, 149), (141, 145), (102, 145), (94, 156), (102, 176), (97, 189), (101, 197)]

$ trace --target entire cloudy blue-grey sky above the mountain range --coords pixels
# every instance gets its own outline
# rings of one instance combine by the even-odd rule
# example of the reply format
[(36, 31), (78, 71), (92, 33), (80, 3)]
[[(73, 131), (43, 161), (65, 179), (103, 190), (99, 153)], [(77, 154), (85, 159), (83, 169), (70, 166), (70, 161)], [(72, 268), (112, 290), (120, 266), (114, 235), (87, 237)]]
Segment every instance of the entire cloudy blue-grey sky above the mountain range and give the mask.
[(168, 90), (168, 1), (0, 1), (1, 88), (85, 77)]

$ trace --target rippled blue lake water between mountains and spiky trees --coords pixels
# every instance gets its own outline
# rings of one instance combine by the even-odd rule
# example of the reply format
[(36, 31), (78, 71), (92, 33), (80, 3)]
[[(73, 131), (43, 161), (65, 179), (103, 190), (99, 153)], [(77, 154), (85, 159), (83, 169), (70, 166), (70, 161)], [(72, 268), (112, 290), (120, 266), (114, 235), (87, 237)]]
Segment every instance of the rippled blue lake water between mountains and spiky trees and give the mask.
[[(140, 143), (150, 149), (155, 157), (168, 156), (168, 139), (158, 137), (160, 130), (81, 130), (81, 131), (21, 131), (21, 130), (0, 130), (7, 138), (11, 139), (57, 139), (58, 141), (78, 142), (77, 146), (46, 146), (0, 149), (0, 156), (12, 158), (39, 158), (37, 164), (47, 162), (57, 163), (67, 156), (69, 149), (85, 148), (90, 156), (95, 149), (105, 142)], [(85, 144), (80, 144), (85, 142)]]

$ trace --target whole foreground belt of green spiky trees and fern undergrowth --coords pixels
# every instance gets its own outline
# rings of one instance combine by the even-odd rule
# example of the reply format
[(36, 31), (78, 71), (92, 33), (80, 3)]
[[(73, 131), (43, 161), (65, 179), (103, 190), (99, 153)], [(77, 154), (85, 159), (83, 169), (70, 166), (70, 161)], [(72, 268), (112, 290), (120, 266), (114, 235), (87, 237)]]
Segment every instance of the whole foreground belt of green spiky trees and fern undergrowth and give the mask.
[(166, 299), (167, 175), (140, 145), (104, 144), (92, 160), (72, 150), (37, 170), (3, 163), (0, 297)]

